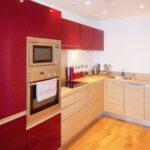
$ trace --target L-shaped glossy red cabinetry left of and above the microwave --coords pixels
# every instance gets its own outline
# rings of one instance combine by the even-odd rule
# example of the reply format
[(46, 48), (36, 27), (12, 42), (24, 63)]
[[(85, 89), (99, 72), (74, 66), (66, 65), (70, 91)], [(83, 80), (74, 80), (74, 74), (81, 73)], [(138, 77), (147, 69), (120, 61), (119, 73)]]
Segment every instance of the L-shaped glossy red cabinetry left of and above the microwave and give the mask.
[(61, 39), (61, 12), (25, 0), (0, 1), (0, 119), (26, 109), (26, 38)]

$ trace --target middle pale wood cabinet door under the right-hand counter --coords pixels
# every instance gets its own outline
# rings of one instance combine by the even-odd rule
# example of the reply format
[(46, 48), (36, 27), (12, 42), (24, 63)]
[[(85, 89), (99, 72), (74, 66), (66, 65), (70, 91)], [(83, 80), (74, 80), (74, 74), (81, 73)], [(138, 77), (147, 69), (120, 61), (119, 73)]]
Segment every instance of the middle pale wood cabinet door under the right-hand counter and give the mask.
[(144, 119), (144, 86), (136, 83), (125, 85), (125, 116)]

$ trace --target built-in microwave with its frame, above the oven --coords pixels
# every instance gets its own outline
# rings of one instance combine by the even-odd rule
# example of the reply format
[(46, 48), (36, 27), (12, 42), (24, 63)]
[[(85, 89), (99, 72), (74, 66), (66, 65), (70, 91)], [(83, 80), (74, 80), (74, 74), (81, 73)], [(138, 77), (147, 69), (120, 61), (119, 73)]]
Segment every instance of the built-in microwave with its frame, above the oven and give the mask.
[(60, 41), (27, 38), (29, 67), (55, 65), (60, 60)]

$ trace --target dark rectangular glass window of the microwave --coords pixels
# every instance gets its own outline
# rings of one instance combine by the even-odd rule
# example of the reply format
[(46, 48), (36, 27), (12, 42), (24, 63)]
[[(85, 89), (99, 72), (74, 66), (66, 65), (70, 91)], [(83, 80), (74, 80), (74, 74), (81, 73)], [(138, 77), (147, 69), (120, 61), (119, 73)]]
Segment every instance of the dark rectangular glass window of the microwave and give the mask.
[(33, 46), (33, 63), (52, 62), (52, 46)]

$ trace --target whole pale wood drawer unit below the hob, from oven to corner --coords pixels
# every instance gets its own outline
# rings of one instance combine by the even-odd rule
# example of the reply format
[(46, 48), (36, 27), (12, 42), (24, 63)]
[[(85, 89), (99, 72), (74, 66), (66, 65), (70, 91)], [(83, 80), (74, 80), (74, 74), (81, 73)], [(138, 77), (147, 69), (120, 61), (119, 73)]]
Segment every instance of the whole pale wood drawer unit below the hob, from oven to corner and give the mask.
[(61, 144), (64, 145), (98, 115), (104, 107), (104, 81), (82, 87), (62, 98)]

